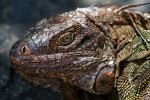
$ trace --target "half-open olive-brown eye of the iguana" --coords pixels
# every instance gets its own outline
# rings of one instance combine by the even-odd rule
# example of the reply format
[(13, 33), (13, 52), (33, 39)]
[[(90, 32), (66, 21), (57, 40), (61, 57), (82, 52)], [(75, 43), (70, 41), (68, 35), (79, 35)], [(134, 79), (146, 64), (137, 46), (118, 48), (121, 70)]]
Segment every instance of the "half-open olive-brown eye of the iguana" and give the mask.
[(67, 32), (59, 37), (59, 42), (62, 45), (69, 45), (74, 41), (74, 33), (73, 32)]

